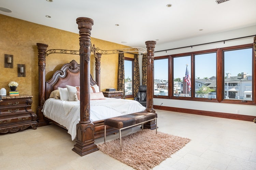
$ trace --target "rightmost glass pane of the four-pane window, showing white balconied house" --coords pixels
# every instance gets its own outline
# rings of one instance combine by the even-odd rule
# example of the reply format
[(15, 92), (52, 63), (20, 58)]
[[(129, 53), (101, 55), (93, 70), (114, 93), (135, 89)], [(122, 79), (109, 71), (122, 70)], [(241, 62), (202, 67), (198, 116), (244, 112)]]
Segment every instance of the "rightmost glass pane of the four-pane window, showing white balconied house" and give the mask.
[(252, 48), (224, 51), (224, 96), (252, 100)]

